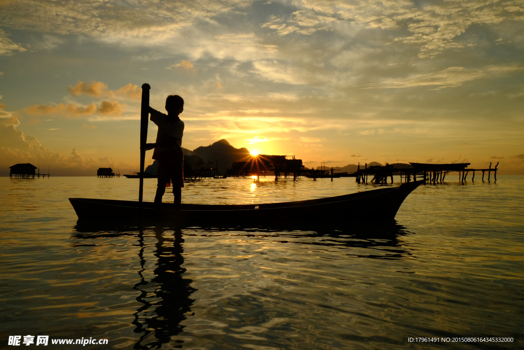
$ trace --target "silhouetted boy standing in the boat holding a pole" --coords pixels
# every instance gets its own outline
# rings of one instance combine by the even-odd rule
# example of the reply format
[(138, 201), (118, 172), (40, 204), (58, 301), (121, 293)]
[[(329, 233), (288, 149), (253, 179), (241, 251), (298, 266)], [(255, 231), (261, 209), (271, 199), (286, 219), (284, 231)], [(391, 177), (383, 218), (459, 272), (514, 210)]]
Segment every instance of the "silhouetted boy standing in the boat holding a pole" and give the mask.
[(173, 182), (174, 204), (180, 206), (182, 187), (184, 187), (184, 154), (182, 153), (182, 135), (184, 122), (179, 114), (184, 110), (184, 100), (178, 96), (168, 96), (166, 99), (167, 115), (149, 108), (151, 121), (157, 124), (157, 141), (148, 143), (146, 150), (155, 149), (153, 159), (158, 161), (158, 184), (155, 205), (162, 203), (166, 187)]

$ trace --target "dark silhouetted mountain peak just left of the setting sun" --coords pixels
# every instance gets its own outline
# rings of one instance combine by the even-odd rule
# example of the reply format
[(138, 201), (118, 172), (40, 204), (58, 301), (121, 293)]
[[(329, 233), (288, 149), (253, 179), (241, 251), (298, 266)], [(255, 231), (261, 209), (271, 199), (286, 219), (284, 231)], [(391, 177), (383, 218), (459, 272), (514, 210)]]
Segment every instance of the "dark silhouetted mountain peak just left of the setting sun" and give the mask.
[(200, 156), (205, 164), (212, 162), (213, 168), (218, 161), (221, 175), (226, 173), (226, 169), (230, 168), (233, 162), (246, 161), (249, 157), (249, 151), (245, 147), (236, 149), (226, 140), (216, 141), (209, 146), (200, 146), (192, 153)]

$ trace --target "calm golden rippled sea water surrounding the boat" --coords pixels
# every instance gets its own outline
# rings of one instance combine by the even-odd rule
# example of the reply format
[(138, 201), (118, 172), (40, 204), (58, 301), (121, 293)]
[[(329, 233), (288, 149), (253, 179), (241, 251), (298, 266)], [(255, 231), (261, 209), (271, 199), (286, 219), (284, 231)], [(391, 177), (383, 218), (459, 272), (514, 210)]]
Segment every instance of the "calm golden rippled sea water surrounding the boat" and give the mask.
[[(416, 189), (393, 225), (348, 215), (340, 230), (275, 231), (82, 227), (68, 197), (136, 200), (138, 180), (0, 178), (0, 348), (14, 348), (10, 335), (49, 335), (53, 349), (522, 348), (524, 176), (448, 179)], [(372, 188), (206, 179), (182, 195), (239, 204)], [(408, 339), (479, 336), (513, 342)], [(91, 337), (108, 344), (51, 345)]]

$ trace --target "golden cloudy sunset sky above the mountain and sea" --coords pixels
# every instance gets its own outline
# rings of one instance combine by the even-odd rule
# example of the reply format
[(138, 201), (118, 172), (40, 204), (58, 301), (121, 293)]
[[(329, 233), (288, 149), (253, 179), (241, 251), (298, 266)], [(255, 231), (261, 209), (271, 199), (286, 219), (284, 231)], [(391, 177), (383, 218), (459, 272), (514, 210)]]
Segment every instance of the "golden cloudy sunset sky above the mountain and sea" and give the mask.
[(138, 171), (145, 82), (190, 150), (524, 174), (523, 58), (524, 0), (0, 0), (0, 175)]

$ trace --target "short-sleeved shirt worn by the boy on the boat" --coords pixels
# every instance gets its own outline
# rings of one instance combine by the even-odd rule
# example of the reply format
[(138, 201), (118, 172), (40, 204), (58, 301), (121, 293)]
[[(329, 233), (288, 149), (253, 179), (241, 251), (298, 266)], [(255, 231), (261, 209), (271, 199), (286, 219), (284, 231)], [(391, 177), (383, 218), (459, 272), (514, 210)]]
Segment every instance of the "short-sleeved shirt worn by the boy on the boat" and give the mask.
[(177, 139), (176, 145), (155, 147), (152, 158), (155, 160), (177, 160), (178, 154), (182, 150), (184, 122), (180, 119), (170, 122), (168, 116), (159, 111), (151, 112), (150, 120), (158, 126), (157, 143), (166, 141), (169, 137)]

